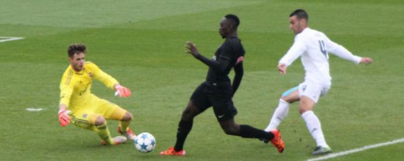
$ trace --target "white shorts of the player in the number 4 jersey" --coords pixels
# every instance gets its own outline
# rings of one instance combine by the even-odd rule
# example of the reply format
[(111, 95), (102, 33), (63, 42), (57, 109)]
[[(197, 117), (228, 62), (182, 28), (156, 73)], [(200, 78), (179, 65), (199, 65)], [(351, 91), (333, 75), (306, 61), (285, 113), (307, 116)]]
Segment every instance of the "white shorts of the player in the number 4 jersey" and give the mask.
[(321, 84), (313, 83), (311, 81), (305, 81), (299, 84), (299, 97), (304, 95), (317, 103), (319, 97), (326, 95), (330, 88), (331, 86), (329, 85), (324, 86)]

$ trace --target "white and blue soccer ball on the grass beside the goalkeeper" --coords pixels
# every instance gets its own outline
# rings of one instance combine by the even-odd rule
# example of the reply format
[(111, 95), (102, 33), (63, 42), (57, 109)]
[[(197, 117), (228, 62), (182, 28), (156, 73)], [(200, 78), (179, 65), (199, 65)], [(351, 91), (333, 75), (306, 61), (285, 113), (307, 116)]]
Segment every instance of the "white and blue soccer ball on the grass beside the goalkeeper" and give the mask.
[(155, 146), (155, 137), (150, 133), (140, 133), (134, 138), (134, 147), (141, 153), (149, 153)]

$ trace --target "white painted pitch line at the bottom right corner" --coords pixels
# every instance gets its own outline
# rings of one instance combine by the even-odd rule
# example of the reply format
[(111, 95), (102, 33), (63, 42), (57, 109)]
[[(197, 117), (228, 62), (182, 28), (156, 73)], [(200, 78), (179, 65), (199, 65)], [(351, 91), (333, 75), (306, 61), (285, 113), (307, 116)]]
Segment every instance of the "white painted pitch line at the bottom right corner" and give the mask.
[(392, 141), (390, 141), (390, 142), (382, 142), (382, 143), (379, 143), (379, 144), (373, 144), (373, 145), (362, 146), (362, 147), (360, 147), (360, 148), (351, 149), (351, 150), (349, 150), (349, 151), (341, 151), (341, 152), (339, 152), (339, 153), (331, 153), (331, 154), (328, 154), (328, 155), (325, 155), (325, 156), (322, 156), (322, 157), (312, 158), (312, 159), (309, 159), (309, 160), (307, 160), (307, 161), (328, 160), (328, 159), (330, 159), (330, 158), (336, 158), (336, 157), (339, 157), (339, 156), (342, 156), (342, 155), (348, 155), (348, 154), (350, 154), (350, 153), (357, 153), (357, 152), (360, 152), (360, 151), (366, 151), (367, 149), (374, 149), (374, 148), (378, 148), (378, 147), (380, 147), (380, 146), (387, 146), (387, 145), (391, 145), (391, 144), (398, 144), (398, 143), (401, 143), (401, 142), (404, 142), (404, 138), (397, 139), (397, 140), (392, 140)]

